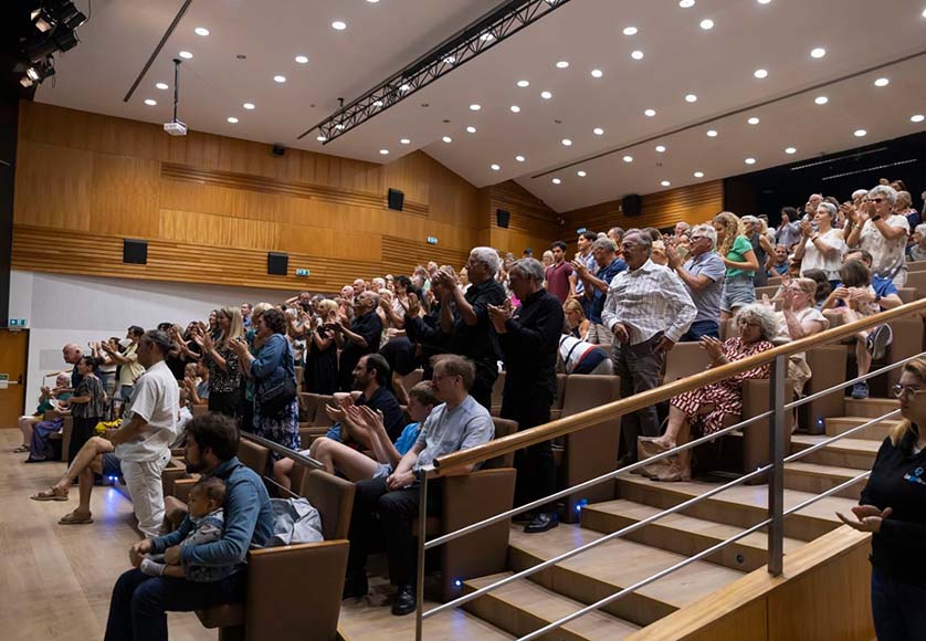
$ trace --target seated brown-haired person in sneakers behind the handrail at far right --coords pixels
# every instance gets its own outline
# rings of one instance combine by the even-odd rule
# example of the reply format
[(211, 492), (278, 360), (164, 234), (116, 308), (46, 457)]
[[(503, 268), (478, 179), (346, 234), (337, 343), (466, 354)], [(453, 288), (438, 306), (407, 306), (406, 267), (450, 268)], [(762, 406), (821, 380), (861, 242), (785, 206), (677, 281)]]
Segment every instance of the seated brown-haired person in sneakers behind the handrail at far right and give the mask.
[[(823, 309), (833, 309), (842, 314), (846, 323), (877, 314), (881, 311), (878, 297), (871, 285), (871, 272), (861, 261), (849, 261), (840, 270), (842, 283), (833, 290)], [(878, 325), (874, 329), (863, 329), (855, 335), (855, 366), (857, 376), (865, 376), (872, 360), (884, 358), (892, 335), (888, 325)], [(852, 386), (852, 398), (869, 398), (867, 381), (860, 380)]]

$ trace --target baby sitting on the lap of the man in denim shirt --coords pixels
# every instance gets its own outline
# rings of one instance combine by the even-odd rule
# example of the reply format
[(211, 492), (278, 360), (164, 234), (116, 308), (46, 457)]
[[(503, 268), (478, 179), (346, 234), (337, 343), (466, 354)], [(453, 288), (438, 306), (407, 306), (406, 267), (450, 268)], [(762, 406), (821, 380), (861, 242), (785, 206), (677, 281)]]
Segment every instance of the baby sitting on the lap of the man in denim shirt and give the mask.
[[(180, 547), (204, 545), (222, 538), (225, 529), (225, 483), (218, 476), (202, 476), (190, 487), (189, 513), (176, 534)], [(197, 582), (220, 581), (235, 571), (235, 564), (225, 566), (168, 565), (164, 554), (146, 554), (138, 569), (149, 577), (173, 577)]]

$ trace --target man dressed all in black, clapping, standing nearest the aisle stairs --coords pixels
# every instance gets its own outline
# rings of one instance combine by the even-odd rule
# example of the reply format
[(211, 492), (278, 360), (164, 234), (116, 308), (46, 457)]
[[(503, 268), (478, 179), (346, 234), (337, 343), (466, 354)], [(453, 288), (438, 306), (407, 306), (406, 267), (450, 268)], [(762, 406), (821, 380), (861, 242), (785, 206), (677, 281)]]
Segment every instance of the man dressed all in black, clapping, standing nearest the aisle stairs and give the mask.
[[(599, 242), (599, 241), (594, 241)], [(606, 242), (611, 242), (606, 239)], [(588, 269), (585, 267), (586, 273)], [(520, 301), (512, 305), (488, 306), (488, 315), (498, 334), (505, 359), (505, 389), (502, 418), (517, 421), (518, 430), (550, 421), (550, 406), (556, 399), (556, 357), (565, 320), (559, 300), (544, 290), (544, 265), (522, 259), (509, 272), (512, 290)], [(544, 441), (515, 454), (518, 482), (515, 504), (529, 503), (556, 491), (556, 463), (553, 444)], [(539, 507), (524, 532), (546, 532), (559, 525), (555, 505)]]

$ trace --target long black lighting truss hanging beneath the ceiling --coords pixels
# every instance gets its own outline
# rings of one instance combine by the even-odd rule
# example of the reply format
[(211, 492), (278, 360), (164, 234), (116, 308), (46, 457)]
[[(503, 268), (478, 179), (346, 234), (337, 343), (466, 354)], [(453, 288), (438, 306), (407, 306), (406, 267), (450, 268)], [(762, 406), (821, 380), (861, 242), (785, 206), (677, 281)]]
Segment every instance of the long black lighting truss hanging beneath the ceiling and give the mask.
[(415, 92), (511, 38), (569, 0), (509, 0), (432, 49), (406, 69), (381, 82), (328, 118), (303, 132), (318, 130), (327, 145)]

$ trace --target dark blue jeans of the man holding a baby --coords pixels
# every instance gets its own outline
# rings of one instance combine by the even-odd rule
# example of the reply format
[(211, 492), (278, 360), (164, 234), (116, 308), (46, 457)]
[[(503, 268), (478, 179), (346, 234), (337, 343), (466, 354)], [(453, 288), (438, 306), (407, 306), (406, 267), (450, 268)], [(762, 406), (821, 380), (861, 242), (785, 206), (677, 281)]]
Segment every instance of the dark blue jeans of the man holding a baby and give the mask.
[(213, 584), (149, 577), (130, 569), (116, 580), (104, 641), (167, 641), (167, 612), (191, 612), (244, 600), (246, 572)]

